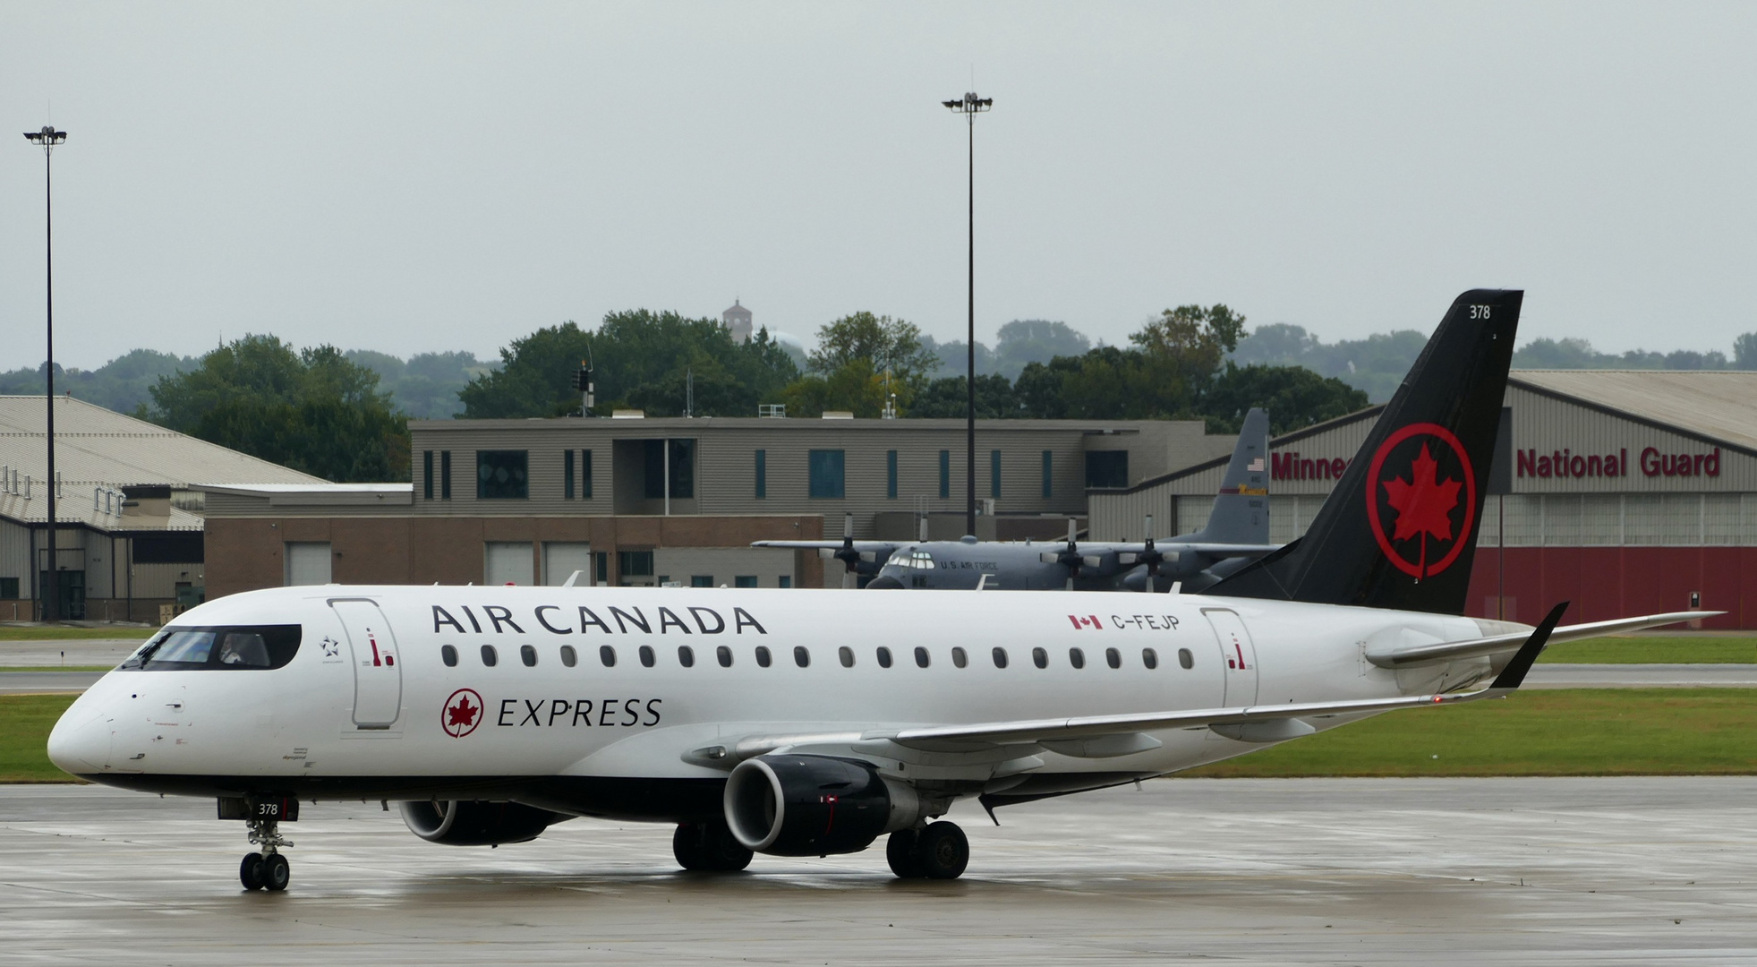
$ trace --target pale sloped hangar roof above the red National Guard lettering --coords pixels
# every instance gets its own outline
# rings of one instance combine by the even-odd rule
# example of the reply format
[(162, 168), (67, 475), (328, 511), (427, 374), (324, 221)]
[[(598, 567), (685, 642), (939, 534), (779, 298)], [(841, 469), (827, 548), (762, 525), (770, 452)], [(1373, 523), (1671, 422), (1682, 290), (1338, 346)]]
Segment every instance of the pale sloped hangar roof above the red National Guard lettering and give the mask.
[(1757, 371), (1516, 369), (1508, 382), (1757, 450)]

